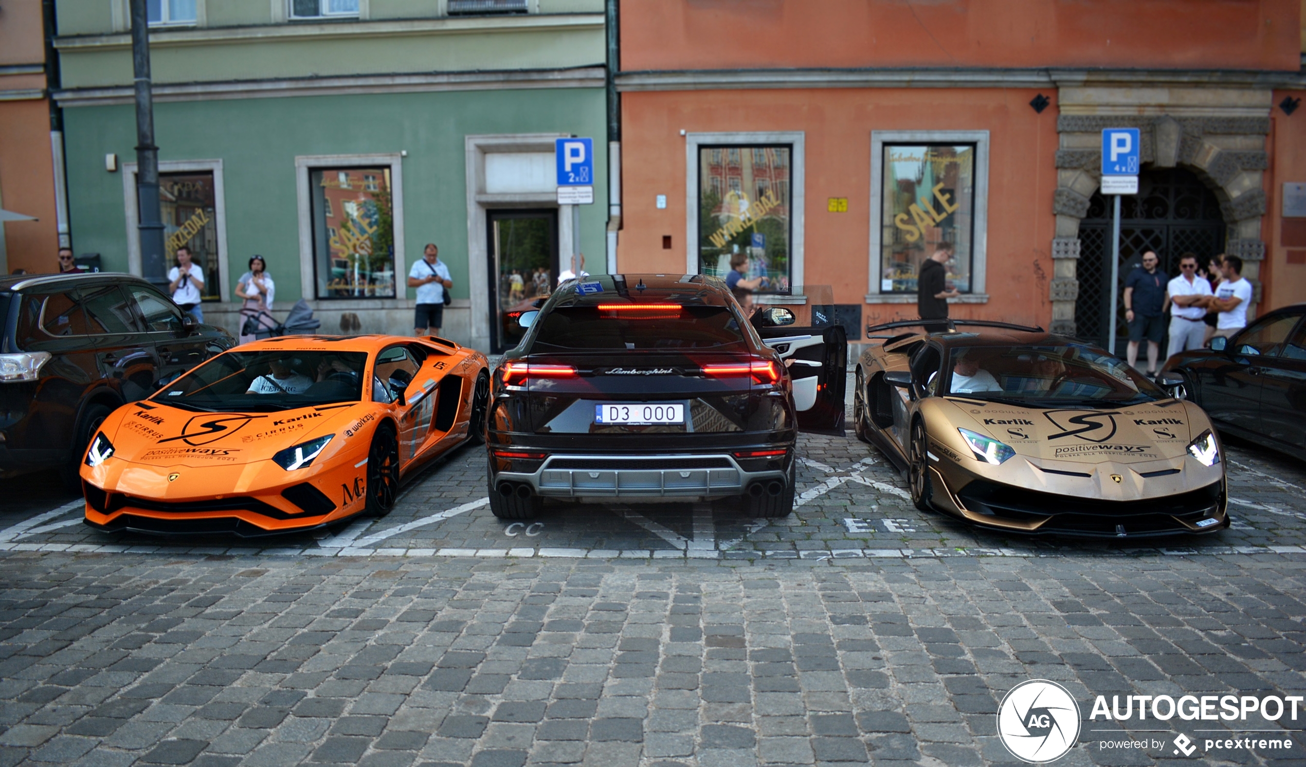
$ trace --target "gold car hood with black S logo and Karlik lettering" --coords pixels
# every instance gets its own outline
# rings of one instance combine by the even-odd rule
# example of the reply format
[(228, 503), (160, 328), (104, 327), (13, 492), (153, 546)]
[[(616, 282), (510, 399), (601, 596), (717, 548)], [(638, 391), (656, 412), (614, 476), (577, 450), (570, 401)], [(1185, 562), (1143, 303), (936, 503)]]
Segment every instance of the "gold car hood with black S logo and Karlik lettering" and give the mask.
[(1025, 457), (1097, 464), (1181, 457), (1209, 429), (1205, 414), (1181, 400), (1117, 410), (1021, 408), (948, 400), (952, 421), (998, 439)]

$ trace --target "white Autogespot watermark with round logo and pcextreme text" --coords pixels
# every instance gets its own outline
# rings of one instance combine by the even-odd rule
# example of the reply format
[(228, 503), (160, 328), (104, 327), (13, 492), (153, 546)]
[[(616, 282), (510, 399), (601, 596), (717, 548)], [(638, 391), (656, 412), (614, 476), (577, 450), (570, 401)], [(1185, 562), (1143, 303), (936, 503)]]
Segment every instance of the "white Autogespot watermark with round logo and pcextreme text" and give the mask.
[[(1149, 725), (1179, 721), (1239, 721), (1259, 716), (1260, 723), (1297, 721), (1306, 715), (1302, 695), (1097, 695), (1088, 716), (1091, 733), (1110, 733), (1107, 737), (1089, 736), (1089, 747), (1101, 753), (1147, 751), (1158, 758), (1194, 757), (1200, 754), (1228, 754), (1233, 751), (1260, 751), (1267, 757), (1282, 758), (1302, 749), (1286, 729), (1221, 729), (1195, 726), (1188, 733), (1148, 730)], [(1151, 715), (1151, 716), (1148, 716)], [(1093, 728), (1093, 723), (1115, 721), (1126, 730), (1147, 734), (1121, 733), (1118, 728)], [(1079, 742), (1081, 730), (1079, 703), (1068, 690), (1047, 679), (1030, 679), (1011, 689), (998, 706), (998, 737), (1007, 750), (1023, 762), (1055, 762)], [(1156, 734), (1151, 734), (1156, 733)]]

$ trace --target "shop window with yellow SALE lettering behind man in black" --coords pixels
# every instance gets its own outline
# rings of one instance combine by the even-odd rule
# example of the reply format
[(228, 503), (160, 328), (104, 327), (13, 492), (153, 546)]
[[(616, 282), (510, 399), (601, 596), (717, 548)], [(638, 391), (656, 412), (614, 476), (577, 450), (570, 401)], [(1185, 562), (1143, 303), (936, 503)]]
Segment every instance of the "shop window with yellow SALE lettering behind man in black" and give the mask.
[(973, 290), (976, 157), (976, 144), (883, 145), (882, 294), (914, 295), (921, 264), (944, 244), (948, 282)]

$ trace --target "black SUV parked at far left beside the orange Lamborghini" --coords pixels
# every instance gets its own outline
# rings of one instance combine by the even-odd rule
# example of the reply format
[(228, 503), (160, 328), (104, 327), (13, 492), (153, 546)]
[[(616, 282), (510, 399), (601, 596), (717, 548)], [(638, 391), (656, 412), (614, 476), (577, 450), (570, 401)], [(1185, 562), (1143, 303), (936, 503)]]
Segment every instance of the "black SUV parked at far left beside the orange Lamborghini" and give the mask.
[(115, 408), (235, 345), (129, 274), (0, 277), (0, 477), (77, 461)]

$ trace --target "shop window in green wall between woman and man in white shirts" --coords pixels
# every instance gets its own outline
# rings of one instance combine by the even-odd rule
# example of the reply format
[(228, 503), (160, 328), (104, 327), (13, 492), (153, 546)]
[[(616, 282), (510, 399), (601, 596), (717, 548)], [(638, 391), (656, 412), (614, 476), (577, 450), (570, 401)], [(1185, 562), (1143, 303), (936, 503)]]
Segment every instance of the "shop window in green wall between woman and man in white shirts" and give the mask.
[(390, 169), (310, 169), (308, 188), (317, 298), (394, 298)]

